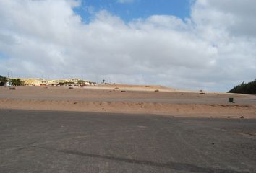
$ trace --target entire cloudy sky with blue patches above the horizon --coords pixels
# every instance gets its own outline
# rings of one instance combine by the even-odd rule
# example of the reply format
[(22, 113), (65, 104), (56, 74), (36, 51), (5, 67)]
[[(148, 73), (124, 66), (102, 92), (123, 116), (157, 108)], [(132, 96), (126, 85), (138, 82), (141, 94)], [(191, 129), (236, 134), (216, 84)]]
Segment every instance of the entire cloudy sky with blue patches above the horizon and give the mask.
[(0, 75), (226, 92), (256, 78), (255, 0), (1, 0)]

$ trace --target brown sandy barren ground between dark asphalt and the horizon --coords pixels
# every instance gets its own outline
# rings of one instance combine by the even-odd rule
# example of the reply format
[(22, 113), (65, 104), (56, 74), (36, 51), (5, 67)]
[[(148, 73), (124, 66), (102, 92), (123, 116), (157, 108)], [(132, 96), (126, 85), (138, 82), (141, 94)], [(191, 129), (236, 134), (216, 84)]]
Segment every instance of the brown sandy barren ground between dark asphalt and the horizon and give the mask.
[[(229, 103), (229, 97), (234, 103)], [(256, 96), (163, 86), (0, 87), (0, 109), (116, 112), (179, 117), (256, 118)]]

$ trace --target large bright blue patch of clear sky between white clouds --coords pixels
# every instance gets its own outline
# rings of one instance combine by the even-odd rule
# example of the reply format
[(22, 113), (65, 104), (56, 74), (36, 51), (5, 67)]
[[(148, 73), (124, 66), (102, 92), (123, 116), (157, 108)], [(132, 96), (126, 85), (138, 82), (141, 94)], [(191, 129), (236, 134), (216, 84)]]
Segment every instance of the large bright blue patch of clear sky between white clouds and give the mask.
[(181, 19), (189, 17), (191, 0), (82, 0), (81, 6), (75, 9), (84, 22), (90, 22), (92, 12), (107, 10), (125, 22), (132, 19), (146, 18), (151, 15), (174, 15)]

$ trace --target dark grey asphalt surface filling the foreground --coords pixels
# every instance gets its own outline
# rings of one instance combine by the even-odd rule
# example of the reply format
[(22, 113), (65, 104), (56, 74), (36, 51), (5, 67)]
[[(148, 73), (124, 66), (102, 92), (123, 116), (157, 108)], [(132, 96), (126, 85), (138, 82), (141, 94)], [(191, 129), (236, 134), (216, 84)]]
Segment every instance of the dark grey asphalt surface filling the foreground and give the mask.
[(256, 120), (0, 110), (0, 172), (256, 172)]

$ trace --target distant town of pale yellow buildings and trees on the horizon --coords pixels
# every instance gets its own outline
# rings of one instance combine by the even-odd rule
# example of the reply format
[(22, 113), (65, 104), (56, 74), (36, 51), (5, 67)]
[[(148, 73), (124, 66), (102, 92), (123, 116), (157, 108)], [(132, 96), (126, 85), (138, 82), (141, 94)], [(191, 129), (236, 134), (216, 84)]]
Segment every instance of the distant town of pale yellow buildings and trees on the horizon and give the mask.
[(93, 85), (96, 85), (96, 82), (85, 81), (82, 79), (43, 79), (43, 78), (26, 79), (26, 78), (7, 78), (7, 77), (0, 76), (0, 85), (1, 86), (93, 86)]

